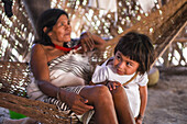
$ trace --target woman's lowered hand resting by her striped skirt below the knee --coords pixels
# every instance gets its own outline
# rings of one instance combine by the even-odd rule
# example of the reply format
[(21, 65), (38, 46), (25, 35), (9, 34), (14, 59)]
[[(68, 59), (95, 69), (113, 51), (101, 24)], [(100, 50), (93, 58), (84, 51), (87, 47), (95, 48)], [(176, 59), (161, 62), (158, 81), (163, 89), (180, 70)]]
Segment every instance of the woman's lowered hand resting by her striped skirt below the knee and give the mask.
[(65, 95), (65, 103), (74, 111), (76, 114), (80, 115), (86, 113), (89, 110), (92, 110), (94, 106), (88, 105), (88, 100), (84, 99), (75, 92), (67, 92)]

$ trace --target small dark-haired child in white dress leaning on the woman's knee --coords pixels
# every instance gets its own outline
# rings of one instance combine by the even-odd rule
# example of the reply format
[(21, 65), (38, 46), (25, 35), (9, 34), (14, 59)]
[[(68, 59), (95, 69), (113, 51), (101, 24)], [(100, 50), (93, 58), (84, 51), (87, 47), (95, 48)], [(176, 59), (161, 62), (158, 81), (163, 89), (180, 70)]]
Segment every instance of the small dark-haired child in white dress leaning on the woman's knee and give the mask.
[(97, 66), (91, 80), (91, 83), (103, 82), (110, 90), (123, 86), (138, 124), (142, 124), (147, 103), (146, 71), (153, 59), (151, 40), (144, 34), (130, 32), (117, 44), (114, 56)]

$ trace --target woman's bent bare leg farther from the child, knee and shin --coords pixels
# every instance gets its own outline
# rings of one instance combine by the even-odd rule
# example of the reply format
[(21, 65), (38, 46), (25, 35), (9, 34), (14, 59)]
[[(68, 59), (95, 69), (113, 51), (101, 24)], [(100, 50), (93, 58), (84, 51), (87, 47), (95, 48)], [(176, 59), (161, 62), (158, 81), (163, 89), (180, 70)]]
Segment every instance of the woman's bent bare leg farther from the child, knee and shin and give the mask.
[(106, 86), (88, 86), (80, 95), (94, 105), (96, 124), (118, 124), (112, 97)]

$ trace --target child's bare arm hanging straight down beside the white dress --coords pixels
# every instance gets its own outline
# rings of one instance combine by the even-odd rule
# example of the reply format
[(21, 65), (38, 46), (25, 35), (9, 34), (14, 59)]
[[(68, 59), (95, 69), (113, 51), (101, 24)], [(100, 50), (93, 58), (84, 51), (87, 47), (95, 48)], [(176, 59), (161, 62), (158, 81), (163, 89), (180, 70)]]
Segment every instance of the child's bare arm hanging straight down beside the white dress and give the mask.
[(136, 124), (142, 124), (144, 112), (147, 104), (147, 86), (141, 87), (140, 86), (140, 97), (141, 97), (141, 108), (140, 113), (136, 119)]

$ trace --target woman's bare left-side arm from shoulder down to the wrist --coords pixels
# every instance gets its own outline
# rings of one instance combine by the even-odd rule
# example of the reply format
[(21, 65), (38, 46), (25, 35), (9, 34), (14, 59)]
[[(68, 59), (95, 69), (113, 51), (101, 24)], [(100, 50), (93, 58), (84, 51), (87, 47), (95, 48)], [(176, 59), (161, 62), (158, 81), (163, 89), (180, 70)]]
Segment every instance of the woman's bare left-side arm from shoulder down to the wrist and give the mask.
[(56, 97), (57, 87), (50, 82), (47, 57), (42, 45), (35, 44), (31, 53), (31, 70), (41, 91), (48, 97)]

